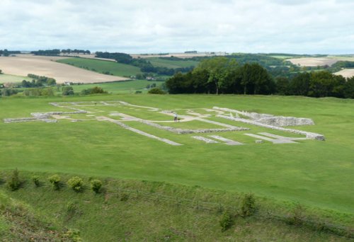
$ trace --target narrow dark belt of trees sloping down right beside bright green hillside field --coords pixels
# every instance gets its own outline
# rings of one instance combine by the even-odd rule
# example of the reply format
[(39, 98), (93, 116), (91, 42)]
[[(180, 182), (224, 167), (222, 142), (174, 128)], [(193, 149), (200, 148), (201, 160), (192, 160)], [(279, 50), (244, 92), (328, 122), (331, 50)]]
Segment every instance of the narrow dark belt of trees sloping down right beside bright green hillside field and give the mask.
[(116, 62), (122, 64), (131, 64), (132, 66), (139, 67), (140, 71), (144, 73), (155, 73), (159, 75), (172, 76), (178, 72), (188, 72), (193, 70), (194, 67), (181, 67), (181, 68), (167, 68), (167, 67), (154, 67), (154, 65), (146, 59), (133, 58), (130, 54), (125, 53), (110, 53), (110, 52), (96, 52), (96, 57), (105, 59), (115, 59)]

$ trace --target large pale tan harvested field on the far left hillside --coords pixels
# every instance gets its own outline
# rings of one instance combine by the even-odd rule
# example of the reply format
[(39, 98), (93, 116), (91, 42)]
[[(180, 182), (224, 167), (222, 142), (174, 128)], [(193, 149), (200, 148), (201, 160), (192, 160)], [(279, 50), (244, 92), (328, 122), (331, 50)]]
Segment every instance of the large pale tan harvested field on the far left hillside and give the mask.
[[(56, 79), (58, 83), (63, 83), (64, 81), (93, 83), (126, 80), (126, 78), (121, 76), (98, 74), (93, 71), (55, 62), (62, 58), (33, 56), (30, 54), (18, 54), (16, 57), (0, 57), (0, 69), (5, 74), (16, 76), (27, 76), (28, 74), (48, 76)], [(91, 59), (87, 60), (90, 61)], [(100, 62), (98, 60), (92, 61)]]

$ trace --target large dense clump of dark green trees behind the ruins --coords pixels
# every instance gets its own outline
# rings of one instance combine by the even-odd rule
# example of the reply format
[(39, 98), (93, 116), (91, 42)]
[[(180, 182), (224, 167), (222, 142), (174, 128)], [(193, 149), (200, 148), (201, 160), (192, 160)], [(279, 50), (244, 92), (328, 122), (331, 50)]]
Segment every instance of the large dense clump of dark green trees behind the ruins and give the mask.
[(239, 64), (234, 59), (205, 59), (187, 74), (166, 81), (169, 93), (278, 94), (310, 97), (354, 98), (354, 77), (345, 79), (329, 71), (273, 78), (260, 64)]

